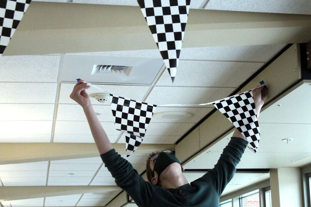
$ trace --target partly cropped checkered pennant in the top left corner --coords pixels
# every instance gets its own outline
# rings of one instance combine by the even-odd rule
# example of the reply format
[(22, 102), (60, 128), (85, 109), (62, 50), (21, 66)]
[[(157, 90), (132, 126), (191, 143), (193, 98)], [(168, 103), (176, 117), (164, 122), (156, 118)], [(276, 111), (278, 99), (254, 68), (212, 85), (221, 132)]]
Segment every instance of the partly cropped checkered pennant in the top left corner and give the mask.
[(0, 56), (9, 44), (31, 0), (0, 0)]

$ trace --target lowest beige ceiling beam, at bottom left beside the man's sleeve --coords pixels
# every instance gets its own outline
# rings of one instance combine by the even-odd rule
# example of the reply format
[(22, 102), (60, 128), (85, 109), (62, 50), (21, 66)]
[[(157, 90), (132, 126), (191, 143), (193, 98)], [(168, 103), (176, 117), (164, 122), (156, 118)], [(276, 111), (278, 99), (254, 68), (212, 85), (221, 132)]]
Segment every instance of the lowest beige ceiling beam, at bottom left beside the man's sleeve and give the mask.
[(109, 193), (118, 191), (117, 186), (12, 186), (0, 187), (0, 201), (66, 196), (82, 193)]

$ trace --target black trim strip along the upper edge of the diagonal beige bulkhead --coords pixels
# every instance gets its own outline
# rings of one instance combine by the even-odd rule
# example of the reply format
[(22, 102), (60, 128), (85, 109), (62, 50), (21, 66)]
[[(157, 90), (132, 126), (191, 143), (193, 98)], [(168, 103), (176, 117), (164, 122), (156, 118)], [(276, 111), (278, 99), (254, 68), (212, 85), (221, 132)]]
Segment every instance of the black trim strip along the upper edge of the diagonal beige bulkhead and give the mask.
[[(253, 80), (259, 73), (261, 73), (265, 68), (267, 68), (273, 61), (276, 60), (276, 58), (278, 58), (280, 55), (283, 54), (283, 52), (285, 52), (288, 48), (290, 48), (290, 46), (292, 46), (293, 44), (287, 44), (280, 52), (278, 52), (274, 57), (271, 58), (271, 60), (269, 60), (265, 65), (263, 65), (261, 68), (259, 68), (259, 70), (257, 70), (256, 73), (254, 73), (251, 77), (249, 77), (246, 81), (244, 81), (244, 83), (242, 83), (239, 88), (237, 88), (234, 92), (232, 92), (229, 96), (233, 96), (235, 94), (237, 94), (242, 88), (244, 88), (244, 86), (246, 86), (251, 80)], [(228, 96), (228, 97), (229, 97)], [(177, 140), (177, 142), (175, 142), (175, 144), (178, 144), (179, 142), (181, 142), (185, 137), (187, 137), (195, 128), (197, 128), (199, 125), (201, 125), (208, 117), (210, 117), (212, 114), (214, 114), (217, 111), (217, 109), (213, 109), (210, 113), (208, 113), (205, 117), (203, 117), (203, 119), (201, 119), (196, 125), (194, 125), (188, 132), (186, 132), (182, 137), (179, 138), (179, 140)]]

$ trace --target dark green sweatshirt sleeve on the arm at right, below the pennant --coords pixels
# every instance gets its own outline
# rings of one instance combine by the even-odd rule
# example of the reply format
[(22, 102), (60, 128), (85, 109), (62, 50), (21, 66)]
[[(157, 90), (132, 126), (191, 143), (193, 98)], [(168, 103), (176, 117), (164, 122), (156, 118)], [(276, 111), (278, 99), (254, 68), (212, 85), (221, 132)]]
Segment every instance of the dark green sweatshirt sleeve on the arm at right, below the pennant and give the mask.
[(247, 144), (248, 142), (242, 138), (231, 137), (217, 164), (198, 181), (209, 181), (220, 196), (228, 182), (233, 178), (236, 166), (239, 164)]

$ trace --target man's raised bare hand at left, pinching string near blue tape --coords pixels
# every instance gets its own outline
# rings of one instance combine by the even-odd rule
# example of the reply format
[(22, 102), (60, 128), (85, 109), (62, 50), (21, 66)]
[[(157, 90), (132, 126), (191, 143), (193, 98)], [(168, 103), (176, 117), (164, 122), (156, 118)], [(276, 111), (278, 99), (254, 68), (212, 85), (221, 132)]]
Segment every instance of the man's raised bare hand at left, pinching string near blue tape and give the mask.
[(85, 91), (88, 88), (90, 88), (90, 86), (88, 86), (87, 83), (83, 83), (82, 80), (79, 80), (79, 82), (73, 87), (72, 93), (70, 94), (70, 98), (76, 101), (83, 108), (91, 106), (89, 95)]

